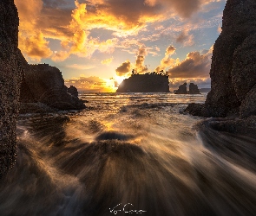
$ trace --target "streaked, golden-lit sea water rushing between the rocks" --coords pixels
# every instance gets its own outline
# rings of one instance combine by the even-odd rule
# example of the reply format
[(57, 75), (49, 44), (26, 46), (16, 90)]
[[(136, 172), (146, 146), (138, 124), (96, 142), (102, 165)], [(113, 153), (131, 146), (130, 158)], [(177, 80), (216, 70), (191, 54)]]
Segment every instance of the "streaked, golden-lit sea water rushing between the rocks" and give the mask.
[(196, 130), (206, 118), (182, 111), (206, 94), (80, 98), (83, 111), (20, 116), (1, 216), (255, 215), (256, 138)]

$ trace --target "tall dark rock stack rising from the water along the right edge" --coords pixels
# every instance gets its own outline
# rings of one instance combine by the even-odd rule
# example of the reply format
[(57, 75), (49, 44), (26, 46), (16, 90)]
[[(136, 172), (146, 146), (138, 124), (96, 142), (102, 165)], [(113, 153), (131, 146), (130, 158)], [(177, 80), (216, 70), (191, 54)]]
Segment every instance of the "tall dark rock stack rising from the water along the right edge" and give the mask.
[(227, 0), (222, 32), (213, 46), (211, 92), (186, 111), (205, 117), (256, 115), (256, 1)]

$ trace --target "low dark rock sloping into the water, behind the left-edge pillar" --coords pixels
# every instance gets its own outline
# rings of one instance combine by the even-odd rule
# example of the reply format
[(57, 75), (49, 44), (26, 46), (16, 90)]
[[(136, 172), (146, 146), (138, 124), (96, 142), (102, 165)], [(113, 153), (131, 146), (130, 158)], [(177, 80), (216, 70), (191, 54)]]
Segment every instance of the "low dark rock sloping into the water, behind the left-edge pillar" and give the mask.
[(28, 65), (25, 61), (25, 74), (21, 89), (21, 101), (41, 102), (59, 110), (83, 109), (82, 100), (68, 93), (62, 73), (47, 64)]

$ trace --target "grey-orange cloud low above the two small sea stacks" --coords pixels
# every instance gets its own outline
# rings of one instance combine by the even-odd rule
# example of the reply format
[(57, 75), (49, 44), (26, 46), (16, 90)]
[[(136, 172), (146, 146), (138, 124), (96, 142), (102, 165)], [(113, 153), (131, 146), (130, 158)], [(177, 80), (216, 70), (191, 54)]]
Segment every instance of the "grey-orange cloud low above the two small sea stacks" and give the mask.
[(187, 54), (187, 58), (168, 70), (170, 78), (208, 78), (213, 47), (207, 54), (198, 51)]

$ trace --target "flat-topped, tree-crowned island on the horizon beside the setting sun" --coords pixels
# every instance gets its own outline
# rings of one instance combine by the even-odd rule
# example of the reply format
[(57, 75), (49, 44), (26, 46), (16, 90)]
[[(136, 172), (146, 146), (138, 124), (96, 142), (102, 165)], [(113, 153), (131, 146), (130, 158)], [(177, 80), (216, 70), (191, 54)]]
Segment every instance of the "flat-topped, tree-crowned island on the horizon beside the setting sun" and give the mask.
[(124, 79), (116, 92), (169, 92), (169, 81), (161, 74), (134, 74)]

